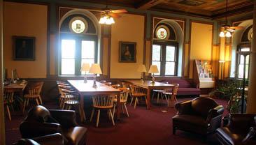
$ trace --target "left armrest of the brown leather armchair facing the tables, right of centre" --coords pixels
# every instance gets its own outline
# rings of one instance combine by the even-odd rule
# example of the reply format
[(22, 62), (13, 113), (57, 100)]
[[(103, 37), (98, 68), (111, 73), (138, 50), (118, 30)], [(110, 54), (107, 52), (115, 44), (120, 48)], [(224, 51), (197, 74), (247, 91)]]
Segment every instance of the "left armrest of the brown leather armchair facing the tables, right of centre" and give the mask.
[(175, 108), (178, 110), (177, 114), (190, 114), (191, 113), (191, 100), (177, 102)]

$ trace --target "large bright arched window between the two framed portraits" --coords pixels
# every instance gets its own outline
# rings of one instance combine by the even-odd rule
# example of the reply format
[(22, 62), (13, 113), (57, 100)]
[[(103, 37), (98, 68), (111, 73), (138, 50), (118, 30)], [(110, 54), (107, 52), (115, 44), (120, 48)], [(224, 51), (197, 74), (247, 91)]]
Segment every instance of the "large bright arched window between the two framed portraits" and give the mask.
[(87, 15), (66, 16), (59, 26), (59, 75), (83, 75), (83, 63), (98, 61), (97, 26)]

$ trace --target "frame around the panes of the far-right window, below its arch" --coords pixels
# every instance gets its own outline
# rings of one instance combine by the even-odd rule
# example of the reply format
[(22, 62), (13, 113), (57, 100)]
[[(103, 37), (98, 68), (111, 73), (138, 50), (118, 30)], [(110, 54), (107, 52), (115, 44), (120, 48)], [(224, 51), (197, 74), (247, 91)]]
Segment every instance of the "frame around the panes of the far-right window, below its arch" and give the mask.
[[(250, 43), (242, 43), (242, 44), (237, 45), (237, 52), (241, 52), (241, 49), (246, 48), (246, 47), (251, 49)], [(236, 73), (235, 73), (235, 77), (237, 79), (243, 79), (243, 78), (239, 77), (239, 66), (240, 66), (240, 64), (243, 64), (243, 63), (240, 63), (240, 59), (241, 59), (241, 54), (236, 53)], [(244, 59), (246, 59), (246, 57)], [(246, 65), (246, 64), (243, 64), (243, 65)], [(249, 74), (250, 74), (249, 72), (250, 72), (250, 55), (249, 55), (249, 63), (248, 63), (248, 75), (247, 75), (248, 78), (249, 78)]]

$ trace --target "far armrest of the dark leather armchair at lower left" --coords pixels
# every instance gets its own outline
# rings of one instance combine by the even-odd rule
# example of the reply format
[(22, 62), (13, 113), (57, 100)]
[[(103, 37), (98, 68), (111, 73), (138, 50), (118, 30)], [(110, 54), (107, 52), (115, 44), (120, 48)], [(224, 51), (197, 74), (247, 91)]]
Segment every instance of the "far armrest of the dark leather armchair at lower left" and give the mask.
[(51, 116), (64, 128), (78, 126), (76, 123), (76, 112), (64, 109), (49, 109)]

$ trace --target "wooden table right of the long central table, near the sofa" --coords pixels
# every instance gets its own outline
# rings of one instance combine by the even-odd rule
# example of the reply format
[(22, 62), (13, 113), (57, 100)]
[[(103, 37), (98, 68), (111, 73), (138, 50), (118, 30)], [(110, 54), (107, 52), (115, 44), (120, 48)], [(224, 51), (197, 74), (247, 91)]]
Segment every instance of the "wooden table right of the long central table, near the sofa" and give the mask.
[(152, 81), (149, 80), (145, 80), (144, 82), (141, 82), (141, 80), (125, 80), (125, 82), (129, 82), (130, 84), (134, 84), (136, 86), (140, 86), (141, 88), (145, 88), (147, 89), (147, 109), (151, 108), (151, 104), (150, 104), (150, 93), (152, 89), (172, 89), (173, 88), (173, 84), (165, 84), (162, 82), (155, 82), (154, 84), (152, 84)]

